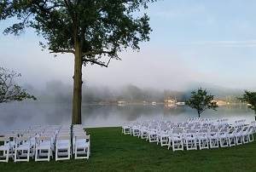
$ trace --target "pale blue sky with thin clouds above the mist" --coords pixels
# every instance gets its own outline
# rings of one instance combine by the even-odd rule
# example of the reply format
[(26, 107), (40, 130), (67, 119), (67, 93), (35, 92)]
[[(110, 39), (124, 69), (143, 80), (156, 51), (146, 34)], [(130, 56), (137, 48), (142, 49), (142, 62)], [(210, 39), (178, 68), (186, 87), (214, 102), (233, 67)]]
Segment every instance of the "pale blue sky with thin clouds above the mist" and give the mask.
[[(119, 53), (108, 68), (83, 67), (89, 86), (188, 89), (208, 83), (256, 89), (256, 1), (165, 0), (148, 4), (150, 41)], [(11, 20), (0, 22), (0, 32)], [(17, 83), (44, 89), (52, 80), (73, 84), (73, 54), (54, 57), (38, 45), (43, 37), (0, 34), (0, 66), (21, 73)]]

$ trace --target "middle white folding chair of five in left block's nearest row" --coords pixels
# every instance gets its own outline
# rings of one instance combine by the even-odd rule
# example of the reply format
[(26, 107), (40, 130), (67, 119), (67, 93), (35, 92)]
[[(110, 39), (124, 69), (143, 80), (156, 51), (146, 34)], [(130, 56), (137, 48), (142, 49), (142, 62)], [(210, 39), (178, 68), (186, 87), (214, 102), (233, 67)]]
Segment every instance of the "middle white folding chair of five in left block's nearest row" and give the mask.
[(36, 137), (35, 161), (49, 161), (50, 157), (53, 157), (51, 138), (46, 136)]

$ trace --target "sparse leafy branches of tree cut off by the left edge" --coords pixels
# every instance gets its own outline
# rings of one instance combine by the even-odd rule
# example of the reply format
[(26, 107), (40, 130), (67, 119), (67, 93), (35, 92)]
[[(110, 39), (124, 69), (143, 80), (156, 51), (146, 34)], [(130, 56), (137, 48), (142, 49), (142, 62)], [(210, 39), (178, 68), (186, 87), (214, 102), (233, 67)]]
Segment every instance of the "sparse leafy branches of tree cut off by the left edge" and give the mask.
[(33, 95), (27, 94), (25, 89), (15, 84), (15, 77), (21, 77), (21, 74), (0, 67), (0, 103), (22, 101), (25, 99), (37, 100)]

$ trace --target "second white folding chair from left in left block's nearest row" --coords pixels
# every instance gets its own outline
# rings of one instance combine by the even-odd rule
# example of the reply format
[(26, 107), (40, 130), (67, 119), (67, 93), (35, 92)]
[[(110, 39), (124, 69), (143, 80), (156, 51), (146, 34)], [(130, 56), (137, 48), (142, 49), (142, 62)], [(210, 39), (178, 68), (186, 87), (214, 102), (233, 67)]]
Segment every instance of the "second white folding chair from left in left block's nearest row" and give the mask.
[[(25, 158), (22, 158), (25, 157)], [(29, 161), (29, 157), (33, 158), (33, 146), (30, 137), (15, 138), (15, 162)]]

